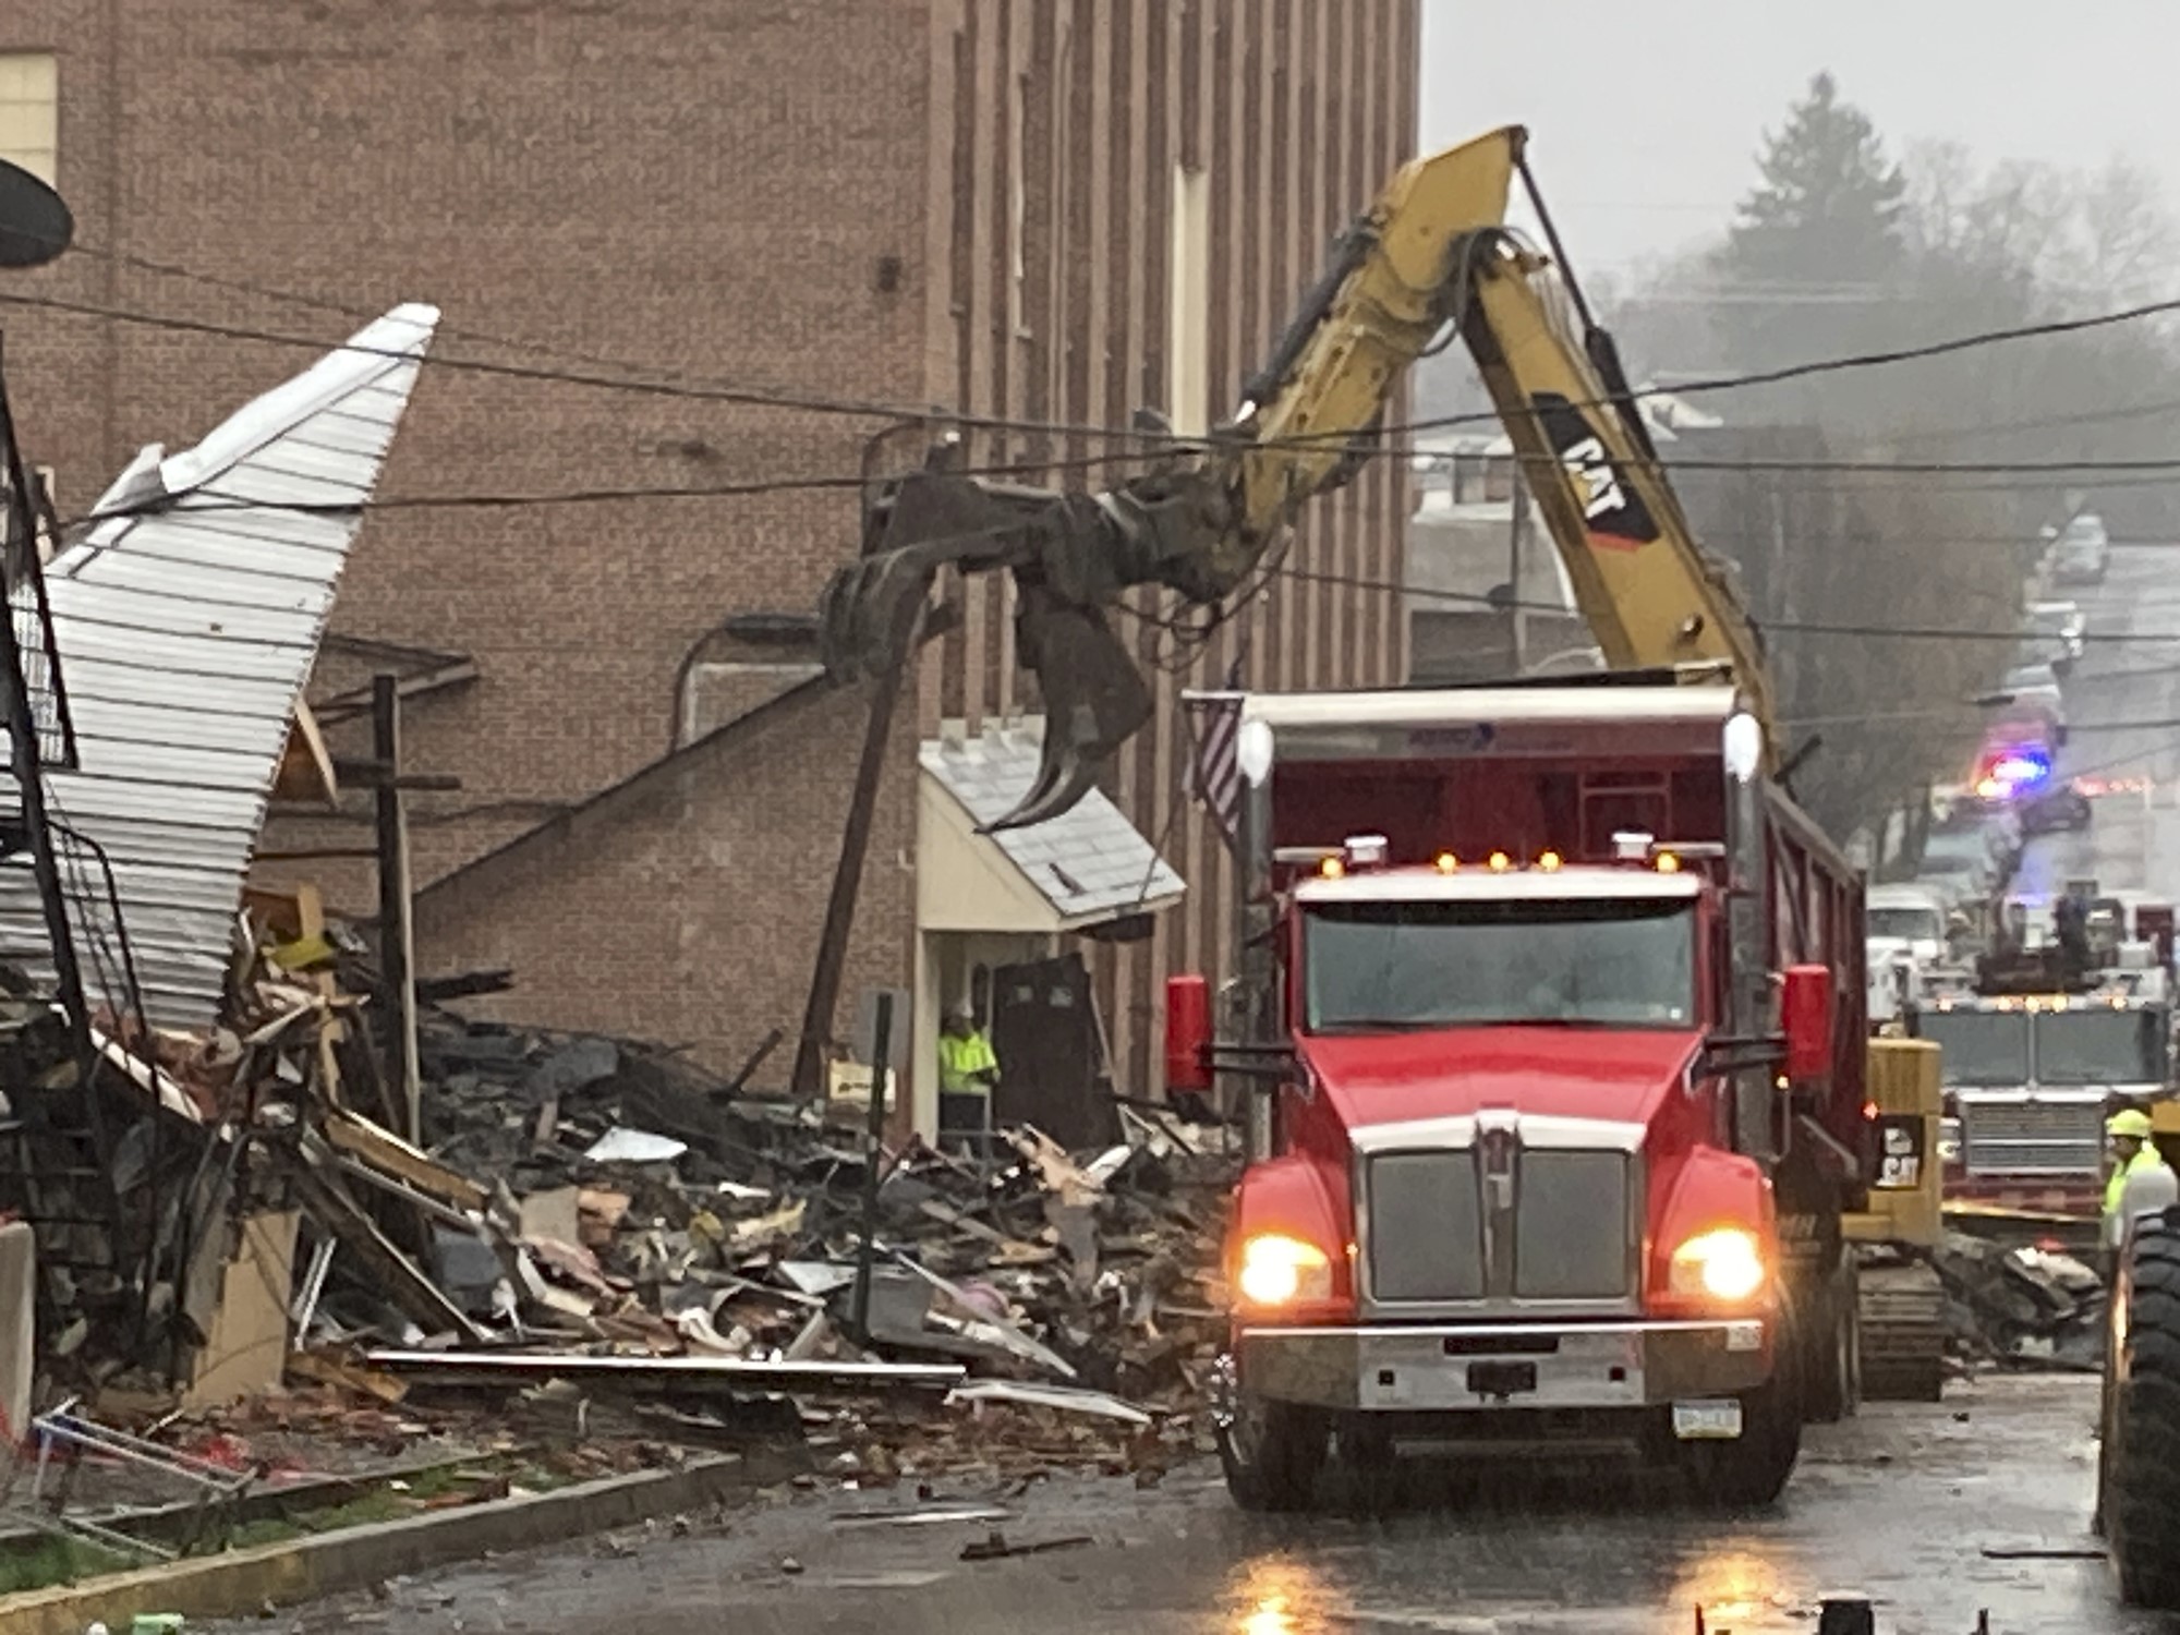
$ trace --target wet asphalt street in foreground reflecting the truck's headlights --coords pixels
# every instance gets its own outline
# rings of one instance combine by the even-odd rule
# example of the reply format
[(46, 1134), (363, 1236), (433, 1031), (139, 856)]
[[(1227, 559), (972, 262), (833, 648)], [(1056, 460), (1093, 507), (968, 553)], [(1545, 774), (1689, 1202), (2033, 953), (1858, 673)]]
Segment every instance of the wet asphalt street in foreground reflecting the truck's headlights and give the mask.
[[(671, 1526), (510, 1557), (235, 1631), (732, 1631), (735, 1635), (1812, 1635), (1827, 1591), (1879, 1607), (1884, 1635), (2149, 1635), (2088, 1537), (2097, 1382), (2008, 1376), (1940, 1406), (1879, 1404), (1809, 1430), (1781, 1504), (1707, 1515), (1644, 1487), (1421, 1485), (1386, 1517), (1249, 1517), (1212, 1465), (1151, 1491), (1055, 1478), (998, 1498), (1029, 1543), (964, 1563), (994, 1522), (870, 1526), (905, 1491), (800, 1493)], [(950, 1502), (992, 1500), (974, 1482)], [(2019, 1557), (2014, 1552), (2047, 1552)], [(2069, 1554), (2071, 1552), (2071, 1554)], [(800, 1572), (785, 1570), (794, 1559)]]

